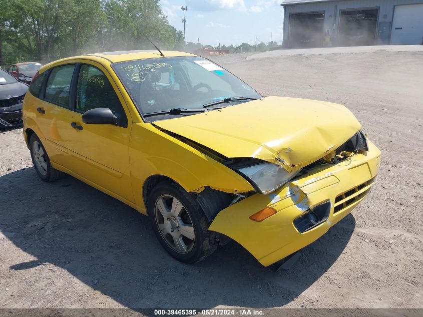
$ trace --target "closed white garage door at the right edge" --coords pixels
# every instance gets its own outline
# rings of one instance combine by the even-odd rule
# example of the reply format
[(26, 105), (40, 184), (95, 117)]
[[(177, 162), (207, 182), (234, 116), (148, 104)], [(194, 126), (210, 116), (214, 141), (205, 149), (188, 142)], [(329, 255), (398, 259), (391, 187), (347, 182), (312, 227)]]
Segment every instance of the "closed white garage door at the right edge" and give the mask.
[(423, 4), (396, 6), (393, 14), (391, 44), (421, 44)]

